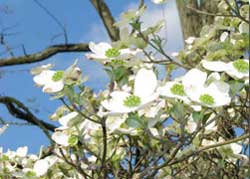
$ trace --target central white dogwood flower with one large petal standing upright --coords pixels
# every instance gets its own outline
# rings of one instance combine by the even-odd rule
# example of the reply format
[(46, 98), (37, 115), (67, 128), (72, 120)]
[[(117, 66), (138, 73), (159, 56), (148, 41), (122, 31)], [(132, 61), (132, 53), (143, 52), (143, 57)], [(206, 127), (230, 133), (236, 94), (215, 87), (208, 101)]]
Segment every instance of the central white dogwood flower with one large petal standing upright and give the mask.
[(110, 94), (111, 99), (101, 104), (111, 115), (133, 112), (146, 107), (158, 97), (156, 86), (157, 78), (153, 70), (142, 68), (136, 74), (133, 93), (114, 91)]

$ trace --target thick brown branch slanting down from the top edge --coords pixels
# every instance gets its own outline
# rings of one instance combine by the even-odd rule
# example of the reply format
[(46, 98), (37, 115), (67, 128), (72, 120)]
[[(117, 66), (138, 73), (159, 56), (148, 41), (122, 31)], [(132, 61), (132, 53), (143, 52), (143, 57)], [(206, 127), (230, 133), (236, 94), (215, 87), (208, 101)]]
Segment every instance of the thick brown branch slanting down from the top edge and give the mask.
[(114, 26), (115, 19), (112, 16), (107, 4), (103, 0), (91, 0), (91, 3), (94, 5), (98, 14), (100, 15), (102, 22), (108, 31), (110, 39), (112, 41), (119, 40), (119, 29)]

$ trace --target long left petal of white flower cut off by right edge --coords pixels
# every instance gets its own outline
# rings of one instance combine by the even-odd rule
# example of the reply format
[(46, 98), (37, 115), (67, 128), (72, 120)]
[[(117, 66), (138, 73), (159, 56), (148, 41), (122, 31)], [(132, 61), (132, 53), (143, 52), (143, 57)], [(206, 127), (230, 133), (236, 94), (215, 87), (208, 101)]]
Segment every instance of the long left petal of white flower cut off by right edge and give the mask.
[(222, 62), (222, 61), (202, 60), (201, 64), (205, 69), (210, 70), (210, 71), (222, 72), (228, 69), (227, 63)]

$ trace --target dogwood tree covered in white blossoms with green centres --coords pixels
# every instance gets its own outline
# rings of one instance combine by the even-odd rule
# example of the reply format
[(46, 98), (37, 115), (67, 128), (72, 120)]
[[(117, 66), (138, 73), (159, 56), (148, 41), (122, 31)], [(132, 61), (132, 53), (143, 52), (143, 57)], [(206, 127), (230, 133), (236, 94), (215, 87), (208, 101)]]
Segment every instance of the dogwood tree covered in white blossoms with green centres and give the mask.
[[(108, 14), (105, 4), (93, 4), (103, 16)], [(77, 66), (81, 61), (57, 71), (51, 64), (32, 69), (41, 91), (62, 102), (51, 114), (60, 126), (54, 129), (35, 120), (15, 101), (51, 145), (38, 155), (28, 154), (27, 147), (5, 153), (1, 149), (0, 176), (250, 177), (249, 5), (222, 0), (217, 6), (219, 14), (201, 12), (214, 16), (214, 22), (200, 36), (186, 39), (185, 49), (175, 54), (166, 53), (158, 34), (164, 21), (142, 27), (147, 10), (143, 1), (138, 9), (122, 13), (118, 22), (106, 21), (117, 29), (110, 31), (113, 42), (84, 47), (89, 50), (86, 57), (103, 65), (110, 78), (108, 88), (99, 93), (85, 86), (87, 78)], [(158, 77), (158, 66), (166, 68), (164, 79)], [(176, 69), (184, 75), (173, 77)]]

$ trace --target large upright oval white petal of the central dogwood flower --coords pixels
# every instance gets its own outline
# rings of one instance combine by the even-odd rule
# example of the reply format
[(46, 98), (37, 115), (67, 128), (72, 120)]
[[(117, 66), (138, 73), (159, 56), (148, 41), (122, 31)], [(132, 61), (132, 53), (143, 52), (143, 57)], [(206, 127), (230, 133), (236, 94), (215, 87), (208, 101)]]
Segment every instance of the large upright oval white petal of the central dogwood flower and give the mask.
[(135, 77), (134, 94), (145, 98), (154, 93), (157, 86), (157, 78), (153, 70), (142, 68)]

